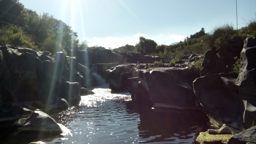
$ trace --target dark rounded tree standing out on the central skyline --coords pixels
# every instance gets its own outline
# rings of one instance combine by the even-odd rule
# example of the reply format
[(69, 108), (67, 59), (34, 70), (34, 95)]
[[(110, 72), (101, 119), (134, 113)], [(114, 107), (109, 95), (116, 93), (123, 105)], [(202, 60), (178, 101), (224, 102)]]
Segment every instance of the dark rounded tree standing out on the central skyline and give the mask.
[(136, 44), (136, 48), (138, 52), (141, 52), (143, 55), (150, 55), (154, 52), (157, 43), (154, 40), (146, 39), (144, 37), (140, 37), (139, 43)]

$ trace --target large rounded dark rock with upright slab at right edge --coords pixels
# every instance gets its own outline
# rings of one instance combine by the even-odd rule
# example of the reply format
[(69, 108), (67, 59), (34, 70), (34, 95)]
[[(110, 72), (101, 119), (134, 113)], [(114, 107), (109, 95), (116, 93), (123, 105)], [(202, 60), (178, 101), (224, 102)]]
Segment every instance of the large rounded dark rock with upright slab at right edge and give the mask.
[(256, 47), (253, 38), (245, 40), (241, 52), (241, 67), (235, 73), (207, 74), (194, 82), (194, 92), (209, 119), (222, 126), (241, 130), (256, 121)]

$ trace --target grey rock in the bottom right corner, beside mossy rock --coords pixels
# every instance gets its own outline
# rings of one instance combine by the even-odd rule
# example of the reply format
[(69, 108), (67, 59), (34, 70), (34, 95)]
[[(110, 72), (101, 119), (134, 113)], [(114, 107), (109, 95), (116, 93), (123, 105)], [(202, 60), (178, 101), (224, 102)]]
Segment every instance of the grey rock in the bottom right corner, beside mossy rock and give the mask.
[(234, 135), (228, 144), (256, 144), (256, 126)]

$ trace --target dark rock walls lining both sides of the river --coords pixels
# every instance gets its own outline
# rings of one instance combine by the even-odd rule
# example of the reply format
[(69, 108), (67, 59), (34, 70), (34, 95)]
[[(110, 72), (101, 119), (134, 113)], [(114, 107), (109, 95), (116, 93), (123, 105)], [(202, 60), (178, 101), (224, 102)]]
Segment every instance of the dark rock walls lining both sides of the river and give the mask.
[[(161, 58), (138, 52), (66, 51), (68, 56), (63, 52), (52, 55), (10, 45), (0, 47), (0, 138), (33, 132), (61, 134), (64, 126), (47, 113), (68, 109), (81, 100), (81, 95), (92, 94), (94, 71), (113, 91), (128, 89), (138, 105), (202, 111), (220, 128), (209, 129), (210, 134), (238, 133), (229, 144), (255, 143), (242, 136), (248, 132), (255, 135), (255, 38), (246, 39), (244, 45), (234, 39), (229, 49), (208, 50), (200, 73), (191, 67), (153, 68), (148, 63)], [(202, 56), (188, 57), (189, 63), (197, 57)], [(228, 73), (233, 57), (241, 58), (239, 74)]]

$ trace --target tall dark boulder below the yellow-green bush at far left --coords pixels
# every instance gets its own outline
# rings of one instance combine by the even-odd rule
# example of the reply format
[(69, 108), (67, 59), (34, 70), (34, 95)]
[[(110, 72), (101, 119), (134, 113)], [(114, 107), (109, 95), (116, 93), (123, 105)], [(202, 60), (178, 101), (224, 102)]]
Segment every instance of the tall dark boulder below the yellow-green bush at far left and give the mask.
[[(11, 75), (12, 90), (17, 100), (37, 100), (35, 55), (22, 50), (19, 52), (19, 49), (11, 49), (8, 45), (1, 46), (0, 50), (3, 52), (6, 60)], [(8, 92), (10, 92), (10, 89)]]

